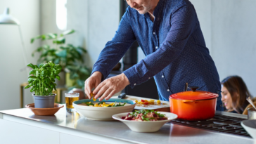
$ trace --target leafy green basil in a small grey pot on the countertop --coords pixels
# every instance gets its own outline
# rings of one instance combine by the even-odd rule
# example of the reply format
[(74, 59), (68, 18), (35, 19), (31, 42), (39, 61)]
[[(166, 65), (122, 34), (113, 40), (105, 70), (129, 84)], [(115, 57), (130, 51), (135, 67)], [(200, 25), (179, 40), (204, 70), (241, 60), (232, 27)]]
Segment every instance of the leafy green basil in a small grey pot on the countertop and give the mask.
[(60, 80), (58, 74), (61, 71), (61, 66), (53, 62), (41, 63), (39, 66), (32, 63), (27, 65), (33, 70), (30, 71), (28, 77), (28, 85), (25, 89), (31, 87), (30, 92), (34, 92), (34, 107), (35, 108), (51, 108), (54, 107), (54, 100), (56, 94), (52, 93), (56, 90), (55, 79)]

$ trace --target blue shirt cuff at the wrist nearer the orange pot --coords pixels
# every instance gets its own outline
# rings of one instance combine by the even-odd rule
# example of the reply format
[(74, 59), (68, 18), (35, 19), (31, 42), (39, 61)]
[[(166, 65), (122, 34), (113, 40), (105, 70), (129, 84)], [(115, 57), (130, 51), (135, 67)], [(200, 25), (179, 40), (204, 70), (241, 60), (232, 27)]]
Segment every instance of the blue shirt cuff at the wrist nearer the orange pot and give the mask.
[(132, 88), (134, 88), (134, 86), (136, 86), (136, 84), (140, 84), (139, 83), (139, 74), (137, 74), (135, 67), (130, 67), (128, 70), (125, 70), (124, 75), (127, 77), (127, 79), (129, 80), (130, 84), (129, 86), (131, 86)]

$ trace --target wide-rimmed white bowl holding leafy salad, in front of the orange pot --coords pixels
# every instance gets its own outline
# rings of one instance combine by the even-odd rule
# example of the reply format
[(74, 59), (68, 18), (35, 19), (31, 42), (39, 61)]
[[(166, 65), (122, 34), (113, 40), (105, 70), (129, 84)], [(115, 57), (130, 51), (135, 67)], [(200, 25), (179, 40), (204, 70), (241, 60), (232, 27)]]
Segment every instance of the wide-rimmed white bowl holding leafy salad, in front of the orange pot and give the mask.
[(160, 120), (160, 121), (130, 121), (130, 120), (124, 120), (122, 117), (127, 116), (129, 112), (124, 112), (121, 114), (115, 114), (113, 115), (113, 119), (117, 119), (124, 124), (126, 124), (129, 129), (135, 132), (155, 132), (158, 131), (165, 123), (171, 121), (172, 119), (176, 119), (178, 116), (177, 114), (173, 114), (170, 112), (158, 112), (160, 114), (165, 114), (165, 117), (167, 117), (167, 120)]

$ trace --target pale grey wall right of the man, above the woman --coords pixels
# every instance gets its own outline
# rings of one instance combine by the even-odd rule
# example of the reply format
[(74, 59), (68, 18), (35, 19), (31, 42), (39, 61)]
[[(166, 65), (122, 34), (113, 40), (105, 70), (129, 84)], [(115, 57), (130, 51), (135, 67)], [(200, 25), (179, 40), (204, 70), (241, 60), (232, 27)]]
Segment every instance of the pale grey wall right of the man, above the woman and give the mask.
[(243, 78), (256, 96), (256, 1), (191, 0), (220, 80)]

